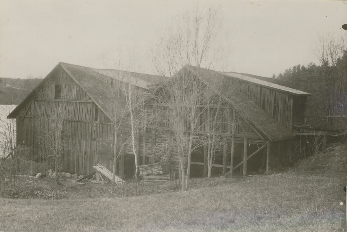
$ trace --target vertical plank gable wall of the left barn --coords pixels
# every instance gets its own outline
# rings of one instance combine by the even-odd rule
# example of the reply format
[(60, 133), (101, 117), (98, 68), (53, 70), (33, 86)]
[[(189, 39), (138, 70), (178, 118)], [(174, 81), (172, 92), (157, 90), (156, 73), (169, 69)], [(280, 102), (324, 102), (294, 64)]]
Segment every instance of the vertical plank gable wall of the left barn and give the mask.
[[(55, 85), (61, 85), (60, 99), (54, 99)], [(16, 116), (17, 144), (28, 146), (31, 149), (28, 154), (33, 160), (48, 162), (49, 149), (43, 147), (44, 129), (34, 130), (34, 125), (40, 125), (50, 117), (62, 102), (65, 104), (67, 126), (71, 129), (69, 136), (72, 147), (70, 154), (63, 154), (63, 170), (88, 174), (92, 166), (100, 161), (96, 141), (107, 141), (112, 137), (111, 121), (101, 110), (99, 120), (94, 121), (95, 104), (62, 68), (46, 78), (31, 106), (27, 104), (20, 109)], [(22, 122), (21, 116), (25, 116)]]

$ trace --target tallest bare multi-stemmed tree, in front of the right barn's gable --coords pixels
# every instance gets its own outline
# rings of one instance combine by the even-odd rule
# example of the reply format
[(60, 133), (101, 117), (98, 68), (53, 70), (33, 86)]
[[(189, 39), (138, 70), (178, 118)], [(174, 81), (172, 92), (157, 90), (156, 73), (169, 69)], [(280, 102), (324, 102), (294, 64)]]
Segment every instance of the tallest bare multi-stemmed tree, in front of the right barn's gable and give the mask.
[[(151, 51), (153, 66), (158, 75), (172, 77), (185, 65), (196, 68), (196, 75), (184, 74), (178, 78), (179, 81), (172, 78), (168, 82), (171, 86), (166, 86), (171, 97), (170, 127), (180, 154), (178, 158), (183, 190), (189, 187), (190, 160), (194, 150), (192, 146), (196, 136), (199, 136), (196, 128), (197, 108), (202, 98), (203, 83), (197, 78), (198, 68), (216, 68), (217, 63), (226, 64), (228, 60), (227, 46), (222, 46), (222, 22), (220, 10), (209, 8), (200, 11), (196, 8), (193, 12), (188, 11), (178, 16), (177, 21), (168, 28), (167, 35), (161, 37)], [(183, 90), (186, 92), (182, 93)], [(185, 125), (182, 120), (187, 120), (190, 125)]]

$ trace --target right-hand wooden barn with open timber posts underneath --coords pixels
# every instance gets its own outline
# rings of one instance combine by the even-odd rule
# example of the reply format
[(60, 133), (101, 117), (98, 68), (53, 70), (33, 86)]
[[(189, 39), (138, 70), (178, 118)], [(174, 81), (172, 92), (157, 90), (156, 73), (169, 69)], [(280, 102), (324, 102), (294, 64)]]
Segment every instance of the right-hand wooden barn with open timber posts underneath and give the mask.
[[(238, 169), (241, 175), (257, 172), (259, 169), (271, 173), (271, 170), (290, 163), (292, 139), (295, 138), (295, 134), (292, 133), (292, 124), (303, 121), (305, 102), (310, 93), (259, 80), (252, 76), (220, 73), (193, 66), (185, 66), (178, 73), (196, 76), (205, 83), (205, 88), (213, 89), (223, 98), (224, 102), (219, 107), (223, 110), (219, 109), (218, 113), (220, 118), (218, 130), (214, 133), (224, 138), (226, 142), (220, 149), (220, 154), (215, 156), (212, 165), (214, 174), (229, 174), (230, 167), (233, 170)], [(179, 78), (178, 74), (176, 76)], [(162, 91), (162, 94), (165, 95), (167, 92)], [(169, 97), (162, 96), (161, 99), (169, 99)], [(211, 133), (204, 126), (211, 116), (203, 111), (210, 108), (213, 112), (216, 106), (208, 106), (204, 102), (198, 104), (200, 105), (196, 115), (200, 118), (197, 120), (195, 130), (198, 130), (197, 133), (203, 137), (204, 134)], [(160, 120), (150, 126), (153, 131), (170, 131), (170, 125), (165, 120), (166, 116), (161, 116), (165, 114), (163, 107), (168, 105), (166, 100), (156, 103), (158, 112), (154, 115), (158, 115)], [(187, 129), (188, 127), (189, 125)], [(164, 139), (165, 135), (153, 133), (153, 131), (152, 134), (157, 134), (159, 138), (156, 139), (156, 143), (162, 143), (158, 146), (167, 147), (168, 141)], [(206, 146), (193, 151), (191, 176), (207, 175), (206, 153)], [(172, 163), (178, 162), (175, 148), (171, 148), (171, 159)]]

